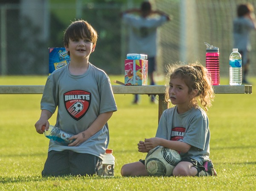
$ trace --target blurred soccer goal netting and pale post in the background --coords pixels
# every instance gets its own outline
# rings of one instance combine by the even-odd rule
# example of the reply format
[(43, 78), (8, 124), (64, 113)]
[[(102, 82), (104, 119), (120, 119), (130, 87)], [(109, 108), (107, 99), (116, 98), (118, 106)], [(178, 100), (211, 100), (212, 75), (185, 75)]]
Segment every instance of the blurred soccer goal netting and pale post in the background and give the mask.
[[(233, 19), (237, 6), (256, 0), (154, 0), (154, 6), (173, 16), (160, 29), (159, 69), (177, 60), (205, 65), (206, 46), (216, 46), (220, 52), (221, 76), (229, 75), (229, 56), (233, 47)], [(251, 31), (249, 75), (256, 74), (256, 31)], [(161, 67), (161, 68), (160, 68)]]

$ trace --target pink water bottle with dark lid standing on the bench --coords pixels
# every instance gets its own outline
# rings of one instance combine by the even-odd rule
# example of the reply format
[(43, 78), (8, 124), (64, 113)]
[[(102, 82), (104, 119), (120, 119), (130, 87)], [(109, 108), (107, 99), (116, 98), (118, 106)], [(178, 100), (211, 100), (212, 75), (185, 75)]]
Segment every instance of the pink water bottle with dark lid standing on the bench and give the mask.
[(220, 63), (219, 63), (219, 51), (218, 47), (206, 45), (206, 61), (205, 66), (209, 75), (211, 76), (212, 85), (220, 85)]

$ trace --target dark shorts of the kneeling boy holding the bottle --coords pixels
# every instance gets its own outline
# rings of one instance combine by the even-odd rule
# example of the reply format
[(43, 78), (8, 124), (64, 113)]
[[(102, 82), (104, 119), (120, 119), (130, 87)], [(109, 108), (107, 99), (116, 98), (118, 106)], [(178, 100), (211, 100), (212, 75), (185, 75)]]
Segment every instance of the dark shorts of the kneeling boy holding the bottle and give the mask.
[(49, 151), (42, 176), (93, 175), (100, 166), (101, 159), (92, 154), (73, 151)]

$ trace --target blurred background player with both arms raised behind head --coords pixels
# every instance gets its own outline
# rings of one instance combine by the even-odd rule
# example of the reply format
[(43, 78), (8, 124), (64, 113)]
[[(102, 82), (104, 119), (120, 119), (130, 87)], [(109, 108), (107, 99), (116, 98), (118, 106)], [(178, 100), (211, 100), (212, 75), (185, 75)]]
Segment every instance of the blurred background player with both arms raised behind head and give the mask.
[[(122, 20), (130, 30), (129, 53), (148, 55), (148, 77), (155, 85), (153, 73), (156, 70), (157, 28), (170, 20), (168, 14), (152, 10), (151, 3), (144, 1), (140, 9), (129, 9), (122, 13)], [(154, 96), (151, 96), (154, 103)], [(138, 103), (135, 95), (133, 103)]]

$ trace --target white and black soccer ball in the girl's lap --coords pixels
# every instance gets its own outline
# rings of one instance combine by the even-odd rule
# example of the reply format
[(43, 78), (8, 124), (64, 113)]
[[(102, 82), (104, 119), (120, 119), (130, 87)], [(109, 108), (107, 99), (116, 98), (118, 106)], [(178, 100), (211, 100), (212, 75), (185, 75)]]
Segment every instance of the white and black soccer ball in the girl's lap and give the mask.
[(177, 151), (157, 146), (148, 151), (145, 168), (151, 176), (171, 176), (180, 160), (180, 154)]

